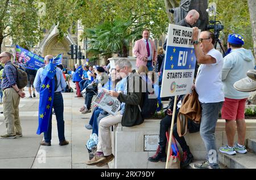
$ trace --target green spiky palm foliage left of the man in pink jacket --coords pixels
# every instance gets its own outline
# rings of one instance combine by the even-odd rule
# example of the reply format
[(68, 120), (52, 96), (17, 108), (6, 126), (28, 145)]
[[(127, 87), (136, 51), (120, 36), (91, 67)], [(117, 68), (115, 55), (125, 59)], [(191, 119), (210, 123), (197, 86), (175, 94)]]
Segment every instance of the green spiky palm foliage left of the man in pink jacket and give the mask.
[(137, 16), (128, 20), (115, 19), (105, 21), (96, 28), (86, 28), (85, 34), (89, 50), (102, 54), (117, 53), (127, 57), (130, 43), (141, 36), (142, 28), (146, 23), (138, 23)]

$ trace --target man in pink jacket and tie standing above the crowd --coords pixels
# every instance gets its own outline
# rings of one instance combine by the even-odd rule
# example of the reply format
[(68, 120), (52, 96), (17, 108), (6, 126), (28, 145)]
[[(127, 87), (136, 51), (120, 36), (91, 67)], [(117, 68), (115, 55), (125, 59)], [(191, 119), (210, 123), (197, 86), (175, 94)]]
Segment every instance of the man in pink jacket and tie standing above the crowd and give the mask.
[(140, 40), (135, 42), (133, 53), (137, 57), (136, 66), (147, 66), (148, 71), (153, 70), (153, 62), (156, 62), (157, 54), (155, 42), (150, 40), (150, 32), (144, 29)]

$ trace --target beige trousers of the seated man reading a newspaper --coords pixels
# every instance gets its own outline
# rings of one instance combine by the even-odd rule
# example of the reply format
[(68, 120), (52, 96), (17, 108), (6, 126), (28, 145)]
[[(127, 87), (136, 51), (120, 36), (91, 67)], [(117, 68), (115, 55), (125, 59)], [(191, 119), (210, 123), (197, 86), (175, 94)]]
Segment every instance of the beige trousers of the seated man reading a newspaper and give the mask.
[(103, 152), (104, 156), (112, 154), (110, 127), (121, 121), (121, 114), (109, 115), (101, 119), (98, 129), (97, 152)]

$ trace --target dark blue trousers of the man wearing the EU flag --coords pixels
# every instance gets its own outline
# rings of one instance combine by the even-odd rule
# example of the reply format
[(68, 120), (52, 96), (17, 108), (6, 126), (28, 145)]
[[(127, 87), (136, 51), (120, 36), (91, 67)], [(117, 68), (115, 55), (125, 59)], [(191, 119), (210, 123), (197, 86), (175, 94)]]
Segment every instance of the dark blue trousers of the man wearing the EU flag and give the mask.
[[(59, 141), (65, 140), (64, 136), (64, 119), (63, 119), (63, 112), (64, 112), (64, 105), (63, 105), (63, 97), (61, 92), (55, 92), (53, 98), (53, 109), (55, 111), (56, 119), (57, 119), (57, 129), (58, 129), (58, 136)], [(44, 132), (44, 140), (47, 143), (51, 143), (52, 139), (52, 113), (49, 118), (48, 124), (48, 131)]]

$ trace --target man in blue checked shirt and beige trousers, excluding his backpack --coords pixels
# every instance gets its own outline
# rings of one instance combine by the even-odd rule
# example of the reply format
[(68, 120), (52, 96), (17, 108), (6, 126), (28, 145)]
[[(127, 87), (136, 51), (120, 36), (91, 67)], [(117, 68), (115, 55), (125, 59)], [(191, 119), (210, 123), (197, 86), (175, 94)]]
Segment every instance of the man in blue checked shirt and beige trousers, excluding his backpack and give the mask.
[(6, 134), (1, 135), (1, 138), (14, 139), (16, 136), (22, 136), (22, 127), (19, 121), (19, 100), (20, 97), (25, 97), (25, 93), (16, 84), (17, 70), (11, 63), (11, 54), (9, 52), (1, 53), (0, 61), (5, 64), (1, 88), (3, 90), (3, 115), (6, 125)]

